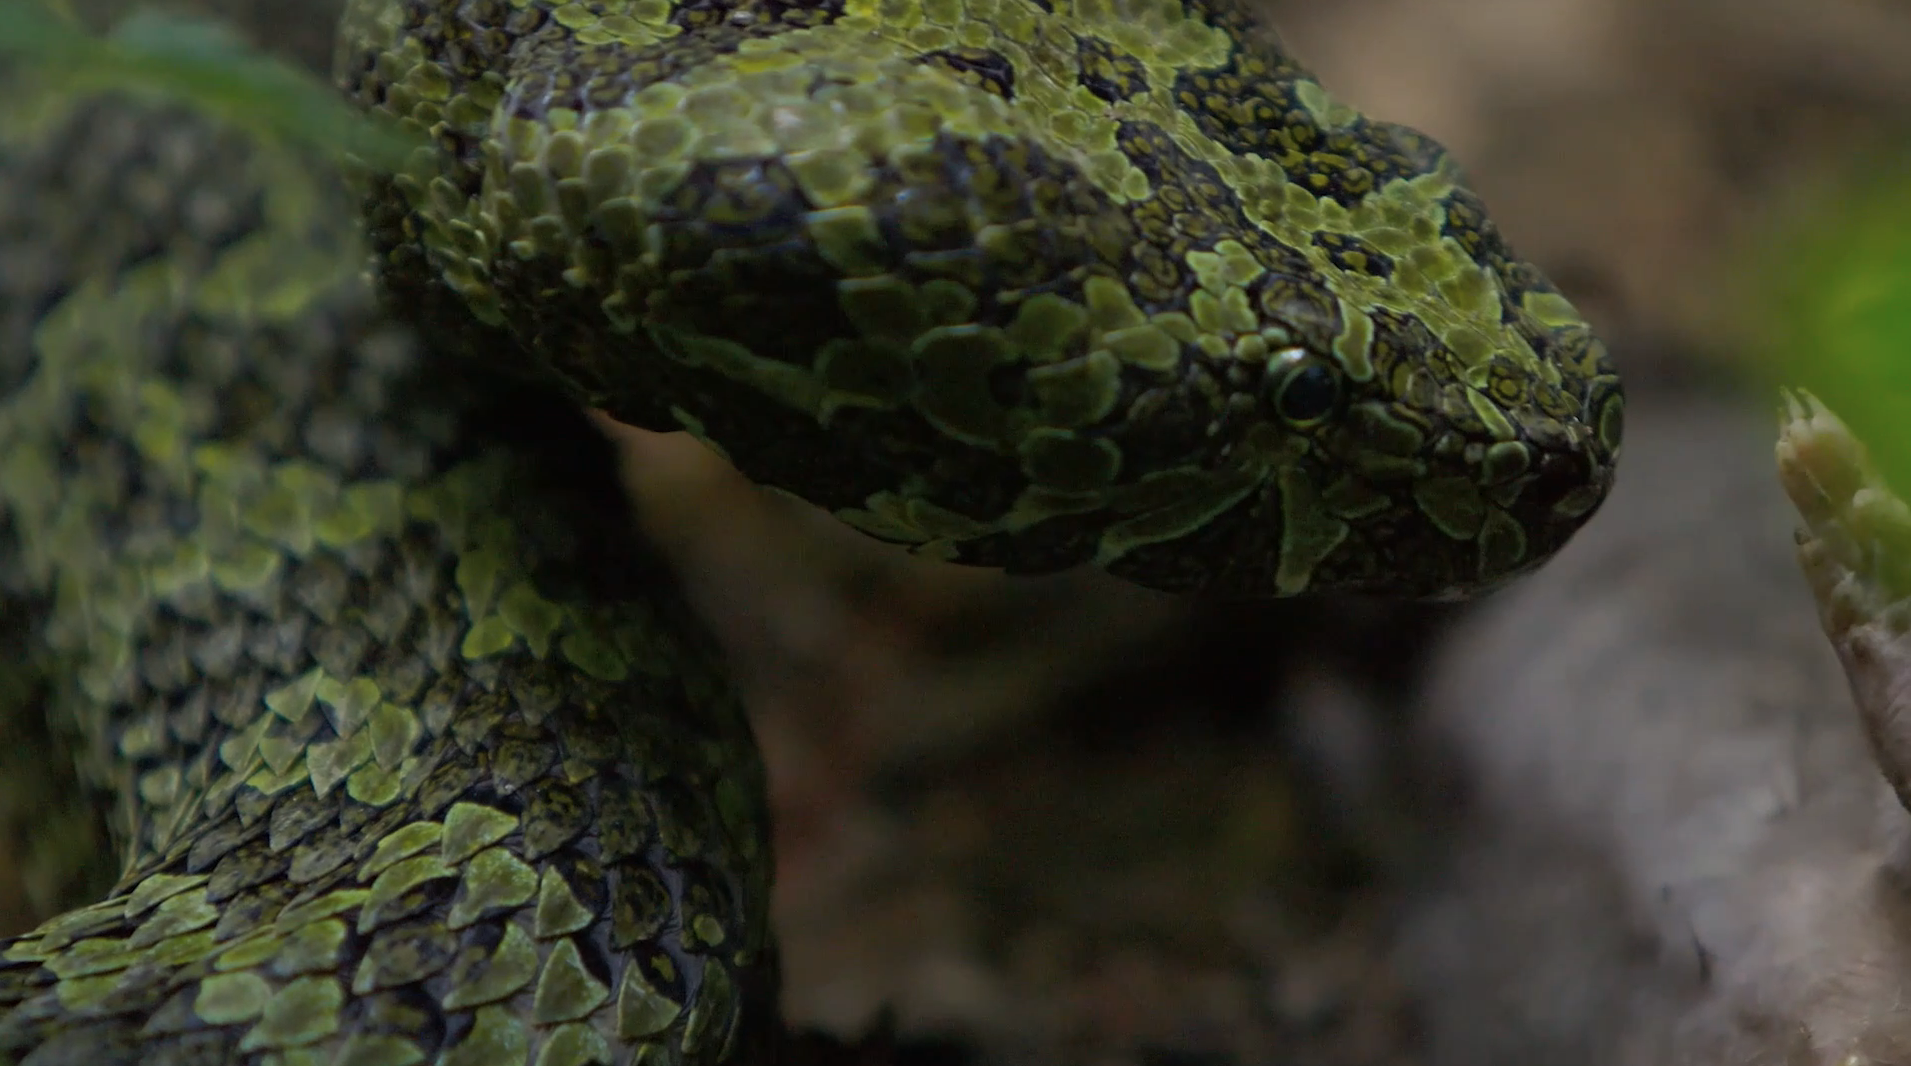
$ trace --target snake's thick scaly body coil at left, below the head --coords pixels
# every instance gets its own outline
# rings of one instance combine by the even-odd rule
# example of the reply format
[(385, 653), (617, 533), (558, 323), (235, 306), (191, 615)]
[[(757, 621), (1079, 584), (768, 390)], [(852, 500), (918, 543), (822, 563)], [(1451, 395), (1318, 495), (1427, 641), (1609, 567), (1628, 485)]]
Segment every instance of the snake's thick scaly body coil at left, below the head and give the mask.
[(122, 846), (0, 1062), (749, 1056), (762, 776), (604, 441), (384, 323), (325, 166), (0, 122), (0, 615)]

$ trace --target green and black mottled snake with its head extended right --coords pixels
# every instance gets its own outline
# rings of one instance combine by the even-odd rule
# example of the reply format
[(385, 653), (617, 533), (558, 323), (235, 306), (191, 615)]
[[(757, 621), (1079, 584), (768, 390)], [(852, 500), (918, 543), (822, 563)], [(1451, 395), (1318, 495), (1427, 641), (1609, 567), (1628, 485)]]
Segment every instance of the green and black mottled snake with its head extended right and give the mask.
[[(1236, 0), (350, 0), (319, 159), (0, 122), (0, 613), (117, 877), (19, 1066), (778, 1056), (764, 772), (583, 411), (934, 560), (1458, 598), (1622, 436), (1429, 138)], [(52, 800), (50, 800), (52, 802)]]

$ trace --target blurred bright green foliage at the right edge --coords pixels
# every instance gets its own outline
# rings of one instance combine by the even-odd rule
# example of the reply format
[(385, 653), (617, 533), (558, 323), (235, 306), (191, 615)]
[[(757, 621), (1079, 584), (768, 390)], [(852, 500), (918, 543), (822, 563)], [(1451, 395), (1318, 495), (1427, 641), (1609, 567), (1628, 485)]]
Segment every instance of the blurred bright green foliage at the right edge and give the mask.
[(1752, 373), (1817, 394), (1911, 489), (1911, 151), (1814, 189), (1747, 266)]

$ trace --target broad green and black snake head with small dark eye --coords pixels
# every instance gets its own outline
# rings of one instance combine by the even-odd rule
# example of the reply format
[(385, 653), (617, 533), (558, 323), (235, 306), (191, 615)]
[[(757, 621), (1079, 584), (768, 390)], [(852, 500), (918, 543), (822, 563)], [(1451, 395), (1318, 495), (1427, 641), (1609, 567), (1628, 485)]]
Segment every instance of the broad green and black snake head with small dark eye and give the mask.
[(1460, 596), (1594, 512), (1619, 380), (1428, 138), (1246, 0), (350, 0), (392, 306), (877, 537)]

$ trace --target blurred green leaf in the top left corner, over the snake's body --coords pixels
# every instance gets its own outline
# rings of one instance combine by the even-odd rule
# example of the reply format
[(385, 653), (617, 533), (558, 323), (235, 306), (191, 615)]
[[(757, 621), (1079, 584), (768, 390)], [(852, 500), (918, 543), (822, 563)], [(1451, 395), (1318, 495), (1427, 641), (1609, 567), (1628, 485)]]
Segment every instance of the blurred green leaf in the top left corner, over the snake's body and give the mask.
[(134, 10), (96, 36), (61, 0), (0, 0), (0, 61), (54, 92), (143, 92), (250, 130), (396, 170), (428, 141), (361, 115), (329, 84), (197, 15)]

